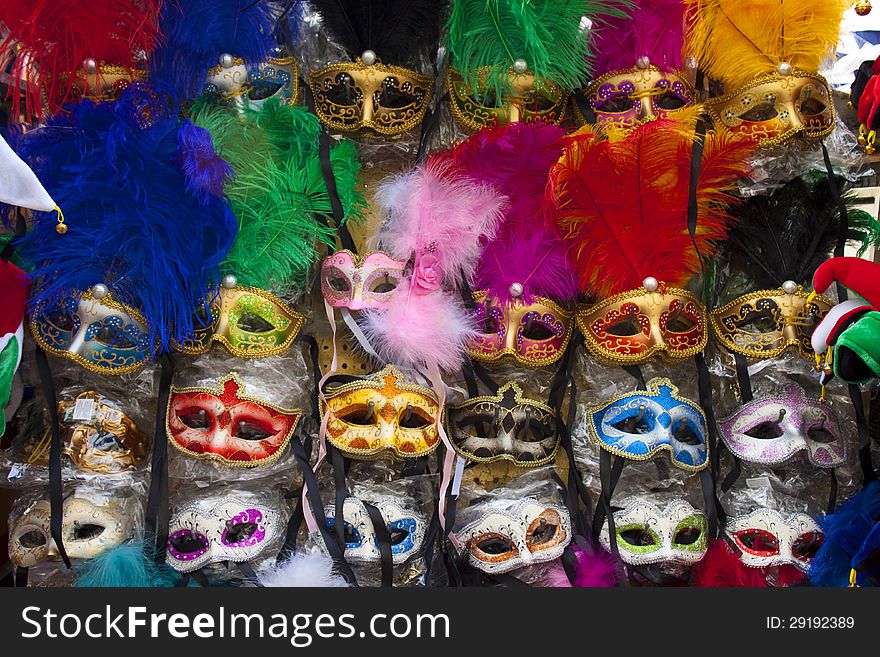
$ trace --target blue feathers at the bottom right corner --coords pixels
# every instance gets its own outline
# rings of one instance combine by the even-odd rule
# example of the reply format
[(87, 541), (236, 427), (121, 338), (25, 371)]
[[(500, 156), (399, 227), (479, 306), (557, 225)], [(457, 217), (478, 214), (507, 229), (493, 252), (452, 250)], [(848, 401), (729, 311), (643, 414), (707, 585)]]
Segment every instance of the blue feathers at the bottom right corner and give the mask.
[(872, 482), (831, 515), (818, 519), (825, 532), (810, 566), (814, 586), (847, 586), (853, 557), (880, 520), (880, 482)]

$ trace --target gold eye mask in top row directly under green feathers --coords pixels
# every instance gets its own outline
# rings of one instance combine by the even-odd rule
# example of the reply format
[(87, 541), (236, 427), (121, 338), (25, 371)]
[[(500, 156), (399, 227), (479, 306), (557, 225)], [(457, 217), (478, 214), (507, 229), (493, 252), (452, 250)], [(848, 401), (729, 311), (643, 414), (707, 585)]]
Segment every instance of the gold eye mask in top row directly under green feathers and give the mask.
[(481, 69), (476, 85), (472, 85), (465, 82), (454, 68), (447, 71), (446, 89), (452, 115), (468, 130), (477, 131), (516, 121), (557, 124), (565, 118), (568, 93), (554, 82), (539, 82), (532, 73), (511, 70), (509, 95), (499, 98), (486, 84), (488, 73), (489, 69)]

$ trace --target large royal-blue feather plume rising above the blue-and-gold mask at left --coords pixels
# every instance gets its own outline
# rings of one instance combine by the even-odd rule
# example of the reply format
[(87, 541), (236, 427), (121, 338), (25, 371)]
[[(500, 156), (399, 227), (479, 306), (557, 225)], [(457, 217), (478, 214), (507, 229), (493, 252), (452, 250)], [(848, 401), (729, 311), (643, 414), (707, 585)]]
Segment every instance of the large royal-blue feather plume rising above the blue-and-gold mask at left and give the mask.
[(15, 140), (69, 226), (59, 235), (54, 213), (35, 213), (18, 247), (38, 281), (32, 305), (104, 283), (144, 314), (165, 351), (193, 333), (194, 311), (217, 289), (238, 224), (225, 199), (204, 193), (228, 165), (188, 177), (193, 126), (144, 98), (133, 85), (117, 103), (83, 101)]

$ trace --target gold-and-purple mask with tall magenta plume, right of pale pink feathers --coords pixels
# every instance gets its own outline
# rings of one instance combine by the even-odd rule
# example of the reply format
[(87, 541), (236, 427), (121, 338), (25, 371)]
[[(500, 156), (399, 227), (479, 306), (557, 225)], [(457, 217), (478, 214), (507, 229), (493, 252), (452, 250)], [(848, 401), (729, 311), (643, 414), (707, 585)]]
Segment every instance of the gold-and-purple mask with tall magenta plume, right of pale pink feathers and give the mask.
[(486, 128), (448, 154), (468, 178), (509, 201), (474, 276), (478, 332), (467, 349), (479, 361), (548, 365), (571, 338), (577, 281), (564, 243), (543, 221), (544, 190), (564, 136), (553, 125), (512, 123)]

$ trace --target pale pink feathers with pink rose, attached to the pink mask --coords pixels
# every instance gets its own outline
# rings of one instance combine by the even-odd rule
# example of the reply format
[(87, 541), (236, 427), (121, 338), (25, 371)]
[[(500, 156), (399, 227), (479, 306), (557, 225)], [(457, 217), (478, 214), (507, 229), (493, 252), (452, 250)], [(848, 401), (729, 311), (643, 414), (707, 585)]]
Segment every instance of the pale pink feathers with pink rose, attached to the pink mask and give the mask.
[(386, 213), (379, 245), (406, 267), (389, 302), (362, 313), (367, 340), (389, 363), (458, 370), (475, 327), (457, 288), (462, 277), (472, 279), (506, 199), (461, 175), (446, 157), (434, 157), (386, 180), (376, 202)]

